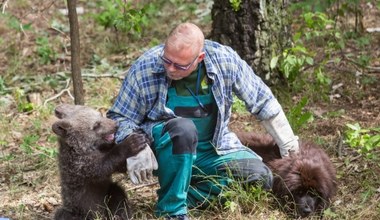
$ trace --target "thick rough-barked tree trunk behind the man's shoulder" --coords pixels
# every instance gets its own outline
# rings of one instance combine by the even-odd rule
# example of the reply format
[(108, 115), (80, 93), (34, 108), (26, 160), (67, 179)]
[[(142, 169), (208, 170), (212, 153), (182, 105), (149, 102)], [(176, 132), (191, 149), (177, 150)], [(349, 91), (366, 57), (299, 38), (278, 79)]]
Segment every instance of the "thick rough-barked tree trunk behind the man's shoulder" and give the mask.
[(290, 44), (285, 2), (242, 0), (233, 10), (230, 0), (214, 1), (211, 39), (231, 46), (267, 82), (279, 74), (270, 69), (273, 56)]

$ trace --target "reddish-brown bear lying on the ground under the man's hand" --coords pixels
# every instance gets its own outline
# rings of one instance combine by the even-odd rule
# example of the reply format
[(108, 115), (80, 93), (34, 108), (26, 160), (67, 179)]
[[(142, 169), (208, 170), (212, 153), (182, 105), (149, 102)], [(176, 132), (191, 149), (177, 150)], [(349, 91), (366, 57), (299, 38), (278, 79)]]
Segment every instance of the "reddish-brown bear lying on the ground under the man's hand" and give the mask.
[(329, 206), (337, 190), (336, 172), (320, 147), (301, 142), (299, 153), (282, 159), (269, 135), (238, 132), (237, 136), (272, 169), (273, 192), (284, 204), (295, 208), (302, 217), (322, 212)]

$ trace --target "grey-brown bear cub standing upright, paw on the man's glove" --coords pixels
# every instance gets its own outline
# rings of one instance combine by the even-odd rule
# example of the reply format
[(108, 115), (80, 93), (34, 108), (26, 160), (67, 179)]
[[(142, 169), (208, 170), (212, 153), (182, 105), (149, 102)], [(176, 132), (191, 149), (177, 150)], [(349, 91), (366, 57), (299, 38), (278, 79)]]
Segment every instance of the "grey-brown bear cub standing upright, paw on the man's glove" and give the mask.
[(143, 150), (146, 135), (135, 132), (114, 144), (116, 122), (92, 108), (62, 104), (55, 115), (63, 204), (54, 219), (131, 218), (127, 196), (111, 175), (126, 170), (126, 158)]

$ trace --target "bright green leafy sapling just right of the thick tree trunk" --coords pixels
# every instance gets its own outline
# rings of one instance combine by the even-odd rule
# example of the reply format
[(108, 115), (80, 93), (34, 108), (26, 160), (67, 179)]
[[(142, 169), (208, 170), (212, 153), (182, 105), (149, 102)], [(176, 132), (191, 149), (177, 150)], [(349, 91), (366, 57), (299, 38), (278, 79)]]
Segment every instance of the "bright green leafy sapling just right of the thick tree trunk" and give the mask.
[[(306, 12), (302, 14), (301, 18), (303, 25), (293, 36), (293, 46), (284, 49), (281, 55), (273, 56), (270, 68), (278, 69), (289, 84), (294, 84), (301, 78), (302, 73), (307, 73), (307, 69), (311, 69), (312, 72), (309, 72), (318, 85), (329, 85), (331, 79), (324, 74), (325, 64), (333, 51), (344, 48), (344, 41), (339, 31), (329, 28), (332, 27), (334, 21), (329, 19), (326, 14)], [(317, 52), (307, 49), (305, 46), (311, 42), (326, 47), (324, 51), (327, 55), (318, 63), (315, 63), (313, 58)]]

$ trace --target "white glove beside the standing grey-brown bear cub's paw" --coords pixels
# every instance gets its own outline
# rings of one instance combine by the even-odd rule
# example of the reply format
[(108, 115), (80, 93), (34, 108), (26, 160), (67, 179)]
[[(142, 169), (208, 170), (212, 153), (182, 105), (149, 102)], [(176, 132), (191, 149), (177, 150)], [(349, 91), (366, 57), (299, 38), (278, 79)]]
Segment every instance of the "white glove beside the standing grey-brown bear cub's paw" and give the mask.
[(133, 184), (149, 182), (153, 177), (153, 170), (157, 169), (156, 157), (148, 144), (136, 156), (127, 158), (127, 170)]

